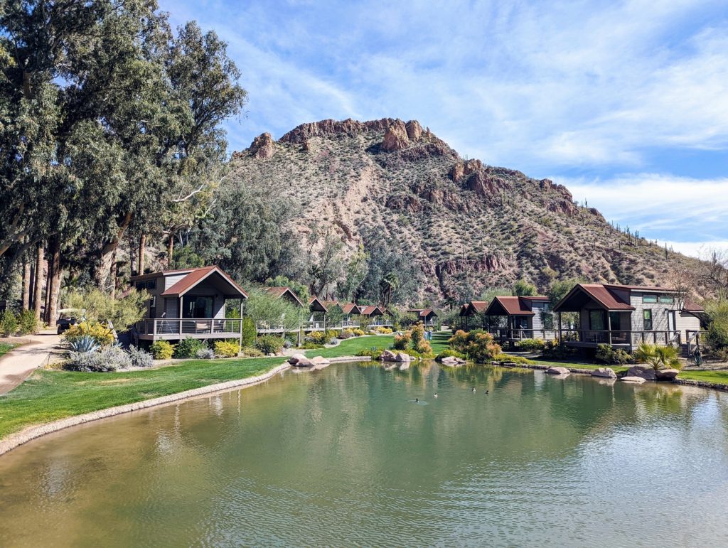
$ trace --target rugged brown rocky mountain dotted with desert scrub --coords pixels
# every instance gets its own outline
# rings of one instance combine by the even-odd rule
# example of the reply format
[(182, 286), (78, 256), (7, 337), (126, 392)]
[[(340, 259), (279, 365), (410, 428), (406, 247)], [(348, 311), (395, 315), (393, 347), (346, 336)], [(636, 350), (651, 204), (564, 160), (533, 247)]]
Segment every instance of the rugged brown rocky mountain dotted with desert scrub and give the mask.
[(468, 298), (526, 278), (628, 284), (667, 282), (671, 265), (694, 260), (625, 234), (580, 207), (548, 179), (463, 159), (419, 122), (381, 119), (301, 124), (260, 135), (233, 155), (237, 178), (275, 188), (350, 252), (376, 234), (422, 271), (419, 298)]

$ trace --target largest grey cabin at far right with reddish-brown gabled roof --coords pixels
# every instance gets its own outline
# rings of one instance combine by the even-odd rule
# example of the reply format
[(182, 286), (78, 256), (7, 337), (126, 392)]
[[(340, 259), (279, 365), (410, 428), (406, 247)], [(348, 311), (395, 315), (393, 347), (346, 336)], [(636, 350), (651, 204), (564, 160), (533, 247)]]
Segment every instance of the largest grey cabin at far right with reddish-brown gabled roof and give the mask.
[[(633, 350), (642, 342), (690, 344), (700, 332), (703, 309), (667, 287), (578, 284), (558, 302), (559, 338), (569, 346), (595, 348), (610, 344)], [(576, 317), (564, 328), (564, 313)]]

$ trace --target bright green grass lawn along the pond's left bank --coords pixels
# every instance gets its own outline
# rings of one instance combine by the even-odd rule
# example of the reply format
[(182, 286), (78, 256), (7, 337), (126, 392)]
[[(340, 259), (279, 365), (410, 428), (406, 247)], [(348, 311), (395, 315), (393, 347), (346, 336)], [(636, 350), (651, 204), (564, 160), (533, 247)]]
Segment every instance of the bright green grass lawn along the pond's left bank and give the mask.
[[(392, 335), (352, 338), (335, 348), (306, 354), (352, 356), (363, 348), (387, 347), (392, 340)], [(259, 375), (282, 361), (280, 357), (190, 360), (154, 370), (117, 373), (38, 370), (15, 390), (0, 396), (0, 438), (31, 424)]]

